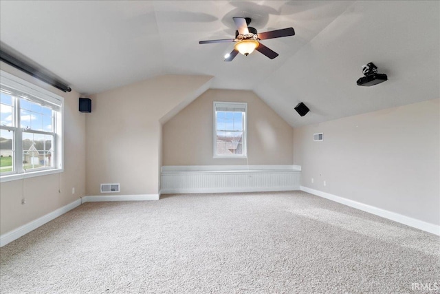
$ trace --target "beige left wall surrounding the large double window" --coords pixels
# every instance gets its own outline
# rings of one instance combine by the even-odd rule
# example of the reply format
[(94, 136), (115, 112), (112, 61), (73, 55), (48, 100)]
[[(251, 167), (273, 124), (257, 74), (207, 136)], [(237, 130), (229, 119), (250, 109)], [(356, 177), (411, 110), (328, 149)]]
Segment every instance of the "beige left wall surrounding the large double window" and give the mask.
[[(65, 98), (64, 172), (0, 184), (0, 233), (36, 220), (85, 196), (85, 117), (78, 112), (79, 94), (64, 93), (28, 74), (1, 63), (1, 70), (39, 85)], [(75, 193), (72, 194), (72, 188)], [(58, 190), (61, 189), (61, 193)], [(26, 204), (21, 204), (21, 198)]]

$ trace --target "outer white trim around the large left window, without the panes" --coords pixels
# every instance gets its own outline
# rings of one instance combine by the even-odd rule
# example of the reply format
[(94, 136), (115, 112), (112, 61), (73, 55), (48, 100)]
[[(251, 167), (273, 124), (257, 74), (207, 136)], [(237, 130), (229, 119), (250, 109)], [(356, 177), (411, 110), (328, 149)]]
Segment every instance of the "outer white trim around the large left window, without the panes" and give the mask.
[[(48, 90), (43, 89), (37, 85), (34, 85), (28, 81), (24, 81), (22, 78), (9, 74), (8, 72), (3, 72), (0, 70), (0, 84), (10, 87), (21, 92), (26, 92), (32, 96), (43, 98), (45, 101), (55, 103), (61, 106), (60, 112), (61, 117), (56, 116), (56, 127), (61, 128), (57, 130), (55, 142), (56, 148), (56, 161), (54, 162), (54, 167), (49, 169), (39, 169), (36, 171), (17, 171), (17, 174), (5, 174), (0, 176), (0, 182), (10, 182), (12, 180), (22, 180), (24, 178), (33, 178), (36, 176), (46, 176), (50, 174), (58, 174), (64, 171), (64, 98), (54, 94)], [(20, 126), (17, 125), (17, 130), (20, 132)], [(18, 142), (17, 142), (18, 143)], [(21, 143), (19, 143), (21, 144)], [(17, 151), (17, 148), (16, 148)], [(15, 156), (15, 160), (19, 156)]]

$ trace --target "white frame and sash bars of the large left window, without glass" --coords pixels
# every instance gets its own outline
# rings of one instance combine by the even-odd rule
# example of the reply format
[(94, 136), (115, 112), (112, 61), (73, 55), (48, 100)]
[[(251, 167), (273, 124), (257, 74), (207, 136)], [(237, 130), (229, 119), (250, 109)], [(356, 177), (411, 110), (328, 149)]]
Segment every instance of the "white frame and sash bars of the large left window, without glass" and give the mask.
[[(12, 114), (14, 125), (12, 127), (0, 126), (1, 129), (12, 130), (14, 132), (13, 137), (13, 168), (11, 172), (5, 172), (0, 174), (0, 182), (9, 182), (12, 180), (20, 180), (23, 178), (32, 178), (36, 176), (45, 176), (49, 174), (58, 174), (64, 171), (64, 98), (54, 94), (48, 90), (34, 85), (28, 81), (23, 80), (17, 76), (9, 74), (0, 70), (0, 84), (4, 85), (6, 88), (12, 90), (17, 90), (23, 92), (35, 98), (29, 98), (30, 101), (34, 103), (39, 103), (38, 100), (56, 105), (59, 110), (54, 110), (53, 118), (53, 132), (29, 130), (26, 131), (21, 129), (21, 125), (17, 113), (21, 111), (20, 108), (20, 98), (13, 98), (12, 101)], [(53, 167), (41, 167), (34, 170), (24, 170), (23, 169), (23, 133), (28, 134), (47, 134), (54, 135), (54, 142), (52, 146), (53, 151)]]

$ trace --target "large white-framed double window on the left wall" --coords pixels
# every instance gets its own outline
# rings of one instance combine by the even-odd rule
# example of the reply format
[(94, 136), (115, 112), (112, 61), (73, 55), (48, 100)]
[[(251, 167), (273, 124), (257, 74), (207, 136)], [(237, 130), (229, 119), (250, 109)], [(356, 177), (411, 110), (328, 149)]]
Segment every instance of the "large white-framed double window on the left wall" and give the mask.
[(63, 171), (63, 97), (0, 74), (1, 182)]

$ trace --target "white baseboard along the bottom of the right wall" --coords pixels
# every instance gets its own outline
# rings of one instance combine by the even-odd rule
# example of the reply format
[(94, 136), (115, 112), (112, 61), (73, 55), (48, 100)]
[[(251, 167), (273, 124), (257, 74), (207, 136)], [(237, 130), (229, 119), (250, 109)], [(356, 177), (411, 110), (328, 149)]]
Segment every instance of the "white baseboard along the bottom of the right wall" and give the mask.
[(422, 231), (427, 231), (429, 233), (433, 233), (435, 235), (440, 235), (440, 226), (437, 224), (430, 224), (429, 222), (423, 222), (423, 220), (417, 220), (415, 218), (410, 218), (409, 216), (404, 216), (399, 213), (395, 213), (393, 211), (388, 211), (385, 209), (381, 209), (378, 207), (373, 207), (368, 204), (364, 204), (361, 202), (357, 202), (354, 200), (349, 200), (347, 198), (342, 198), (340, 196), (336, 196), (330, 193), (318, 191), (315, 189), (300, 187), (301, 191), (305, 191), (307, 193), (314, 194), (316, 196), (332, 200), (338, 202), (340, 204), (347, 205), (349, 207), (353, 207), (355, 209), (360, 209), (362, 211), (366, 211), (368, 213), (374, 214), (376, 216), (381, 216), (382, 218), (388, 218), (388, 220), (393, 220), (395, 222), (399, 222), (401, 224), (406, 224), (409, 227), (413, 227)]

